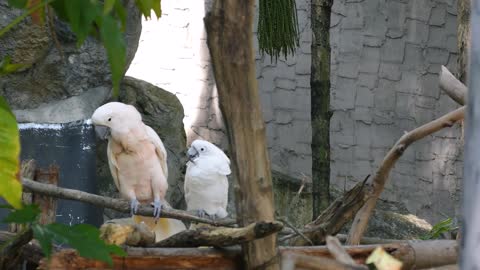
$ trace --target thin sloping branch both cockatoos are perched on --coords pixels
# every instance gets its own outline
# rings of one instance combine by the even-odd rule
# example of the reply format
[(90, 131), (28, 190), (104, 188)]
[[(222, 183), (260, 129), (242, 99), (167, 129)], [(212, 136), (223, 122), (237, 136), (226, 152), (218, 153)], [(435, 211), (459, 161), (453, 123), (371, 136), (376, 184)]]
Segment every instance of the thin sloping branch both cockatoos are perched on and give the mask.
[[(49, 184), (42, 184), (26, 178), (22, 179), (22, 184), (24, 189), (34, 193), (55, 197), (58, 199), (81, 201), (99, 207), (110, 208), (122, 213), (130, 213), (130, 203), (127, 200), (114, 199), (87, 193), (84, 191), (61, 188)], [(136, 215), (153, 216), (153, 207), (142, 205), (138, 208), (138, 212), (136, 213)], [(186, 211), (176, 210), (172, 208), (163, 209), (160, 216), (184, 221), (206, 223), (214, 226), (232, 226), (236, 223), (234, 220), (231, 219), (212, 220), (208, 218), (201, 218), (192, 215)]]

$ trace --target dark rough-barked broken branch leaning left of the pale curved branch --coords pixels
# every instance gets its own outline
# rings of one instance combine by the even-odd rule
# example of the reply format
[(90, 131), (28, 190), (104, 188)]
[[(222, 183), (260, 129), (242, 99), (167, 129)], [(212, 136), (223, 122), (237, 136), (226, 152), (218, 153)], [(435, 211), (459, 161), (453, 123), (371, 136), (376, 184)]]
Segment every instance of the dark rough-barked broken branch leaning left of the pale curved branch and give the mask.
[[(303, 234), (315, 244), (323, 244), (327, 235), (337, 234), (348, 223), (357, 211), (367, 202), (373, 192), (373, 187), (363, 182), (357, 183), (352, 189), (337, 198), (313, 222), (305, 225)], [(308, 242), (303, 237), (295, 237), (291, 245), (305, 246)]]

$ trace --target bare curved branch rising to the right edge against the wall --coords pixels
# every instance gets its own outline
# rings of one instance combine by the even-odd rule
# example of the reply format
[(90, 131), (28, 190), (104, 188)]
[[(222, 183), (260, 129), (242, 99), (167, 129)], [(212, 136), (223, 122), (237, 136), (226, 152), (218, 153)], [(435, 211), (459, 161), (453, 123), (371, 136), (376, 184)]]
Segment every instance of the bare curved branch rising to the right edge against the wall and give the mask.
[(347, 244), (349, 245), (358, 245), (360, 239), (367, 228), (368, 219), (370, 218), (375, 205), (377, 204), (377, 199), (380, 197), (380, 194), (385, 187), (385, 183), (388, 179), (388, 174), (390, 170), (395, 165), (395, 162), (402, 156), (403, 152), (407, 147), (434, 132), (437, 132), (445, 127), (451, 127), (457, 121), (462, 120), (465, 115), (465, 106), (456, 109), (438, 119), (435, 119), (423, 126), (420, 126), (408, 133), (405, 133), (397, 143), (390, 149), (382, 163), (380, 164), (379, 169), (375, 173), (373, 178), (373, 191), (370, 194), (370, 198), (367, 200), (365, 205), (357, 212), (355, 219), (353, 220), (352, 227), (348, 233)]

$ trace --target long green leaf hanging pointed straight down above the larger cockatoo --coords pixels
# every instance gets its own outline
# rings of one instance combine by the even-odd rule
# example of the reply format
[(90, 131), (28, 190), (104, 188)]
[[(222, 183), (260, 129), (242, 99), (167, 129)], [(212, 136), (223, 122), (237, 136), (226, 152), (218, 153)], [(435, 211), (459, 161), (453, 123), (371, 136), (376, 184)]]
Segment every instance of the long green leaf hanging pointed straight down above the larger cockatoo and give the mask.
[(100, 36), (107, 50), (108, 62), (112, 71), (113, 96), (117, 96), (126, 65), (125, 40), (117, 21), (112, 16), (103, 16), (99, 24)]

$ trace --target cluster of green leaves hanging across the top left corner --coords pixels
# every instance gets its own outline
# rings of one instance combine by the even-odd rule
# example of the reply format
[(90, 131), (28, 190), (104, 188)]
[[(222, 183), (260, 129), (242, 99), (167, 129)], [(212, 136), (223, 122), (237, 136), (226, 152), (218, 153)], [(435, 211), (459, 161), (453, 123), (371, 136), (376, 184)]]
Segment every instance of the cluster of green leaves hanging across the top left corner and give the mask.
[[(12, 7), (27, 9), (27, 11), (0, 30), (0, 36), (28, 15), (35, 23), (43, 23), (47, 6), (52, 7), (56, 15), (70, 25), (77, 37), (78, 46), (81, 46), (88, 36), (99, 36), (107, 51), (112, 73), (113, 94), (118, 95), (120, 81), (125, 73), (127, 53), (123, 38), (127, 11), (122, 0), (8, 0), (8, 3)], [(152, 10), (157, 17), (162, 14), (160, 0), (136, 0), (135, 3), (147, 19), (151, 18)], [(0, 63), (0, 75), (21, 67), (17, 66), (18, 64), (10, 64), (10, 59), (7, 60), (8, 68), (2, 68)]]

